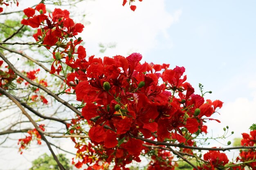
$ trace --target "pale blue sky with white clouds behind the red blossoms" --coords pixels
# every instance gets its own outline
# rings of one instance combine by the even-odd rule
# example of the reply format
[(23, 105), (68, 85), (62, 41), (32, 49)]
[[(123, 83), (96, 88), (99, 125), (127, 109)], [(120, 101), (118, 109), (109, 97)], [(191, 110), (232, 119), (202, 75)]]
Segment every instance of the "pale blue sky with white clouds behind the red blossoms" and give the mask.
[[(34, 1), (20, 4), (28, 7)], [(209, 124), (212, 136), (225, 126), (234, 131), (227, 140), (248, 133), (256, 123), (256, 1), (143, 0), (135, 5), (135, 12), (128, 4), (123, 7), (122, 0), (86, 0), (78, 5), (74, 20), (85, 24), (80, 36), (88, 55), (137, 52), (148, 63), (184, 66), (187, 82), (197, 93), (201, 83), (205, 91), (213, 92), (207, 99), (224, 102), (220, 115), (214, 116), (221, 123)], [(85, 14), (83, 20), (80, 13)], [(100, 53), (99, 43), (116, 46)], [(30, 160), (35, 152), (22, 157)], [(22, 169), (23, 164), (15, 168)]]

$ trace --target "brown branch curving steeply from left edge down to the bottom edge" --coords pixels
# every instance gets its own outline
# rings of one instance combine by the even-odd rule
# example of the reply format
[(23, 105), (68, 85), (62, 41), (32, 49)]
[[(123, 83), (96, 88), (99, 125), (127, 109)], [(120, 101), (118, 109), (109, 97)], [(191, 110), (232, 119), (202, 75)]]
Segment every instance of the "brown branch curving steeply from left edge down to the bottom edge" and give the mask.
[(49, 142), (47, 141), (47, 139), (45, 138), (44, 132), (43, 130), (41, 130), (36, 122), (34, 121), (34, 119), (32, 119), (32, 117), (26, 112), (26, 110), (22, 107), (22, 105), (20, 104), (20, 102), (18, 102), (12, 95), (10, 95), (9, 93), (7, 93), (7, 91), (5, 91), (3, 88), (0, 87), (0, 93), (2, 93), (3, 95), (5, 95), (6, 97), (8, 97), (9, 99), (11, 99), (11, 101), (13, 101), (22, 111), (22, 114), (25, 115), (29, 121), (33, 124), (33, 126), (36, 128), (36, 130), (39, 132), (39, 134), (41, 135), (43, 141), (45, 141), (46, 145), (48, 146), (49, 150), (52, 153), (52, 156), (54, 157), (56, 163), (58, 164), (58, 167), (61, 170), (65, 170), (65, 168), (63, 167), (63, 165), (60, 163), (60, 161), (58, 160), (58, 158), (56, 157), (54, 151), (52, 150), (51, 145), (49, 144)]

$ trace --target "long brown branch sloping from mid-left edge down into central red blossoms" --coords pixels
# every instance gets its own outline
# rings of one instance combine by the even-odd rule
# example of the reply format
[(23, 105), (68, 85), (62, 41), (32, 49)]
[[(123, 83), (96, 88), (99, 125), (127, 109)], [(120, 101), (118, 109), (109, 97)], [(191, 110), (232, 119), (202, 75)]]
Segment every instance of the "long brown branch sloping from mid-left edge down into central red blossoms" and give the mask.
[(77, 110), (74, 106), (72, 106), (71, 104), (67, 103), (65, 100), (61, 99), (60, 97), (58, 97), (58, 95), (56, 95), (55, 93), (53, 93), (52, 91), (50, 91), (48, 88), (33, 82), (31, 79), (27, 78), (25, 75), (22, 75), (22, 73), (20, 73), (20, 71), (18, 71), (13, 64), (11, 64), (11, 62), (4, 57), (4, 55), (2, 53), (0, 53), (0, 57), (2, 58), (2, 60), (4, 60), (4, 62), (6, 62), (9, 67), (13, 70), (13, 72), (18, 75), (19, 77), (21, 77), (22, 79), (25, 79), (29, 84), (31, 84), (32, 86), (36, 86), (40, 89), (42, 89), (43, 91), (45, 91), (48, 95), (54, 97), (54, 99), (56, 99), (58, 102), (60, 102), (61, 104), (67, 106), (68, 108), (70, 108), (72, 111), (74, 111), (77, 115), (81, 116), (81, 112), (79, 110)]

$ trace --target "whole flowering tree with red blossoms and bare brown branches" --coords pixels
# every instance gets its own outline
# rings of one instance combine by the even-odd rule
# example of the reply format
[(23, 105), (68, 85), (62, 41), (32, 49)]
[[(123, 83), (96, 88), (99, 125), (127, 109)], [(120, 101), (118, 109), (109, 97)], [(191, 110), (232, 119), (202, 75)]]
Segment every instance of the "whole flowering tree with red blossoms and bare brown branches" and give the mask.
[[(135, 11), (133, 1), (129, 4)], [(174, 170), (179, 160), (195, 170), (256, 169), (254, 125), (249, 134), (242, 134), (241, 146), (202, 147), (206, 140), (198, 138), (207, 134), (207, 122), (220, 122), (212, 115), (223, 102), (205, 99), (211, 91), (204, 92), (201, 84), (201, 94), (195, 94), (184, 67), (142, 63), (139, 53), (87, 56), (77, 37), (83, 24), (75, 23), (67, 10), (48, 12), (46, 2), (24, 9), (20, 27), (8, 21), (11, 28), (0, 35), (1, 111), (15, 104), (23, 115), (0, 135), (25, 133), (17, 140), (21, 154), (33, 141), (40, 145), (43, 140), (64, 170), (48, 139), (70, 138), (77, 150), (72, 163), (86, 170), (129, 170), (130, 163), (143, 157), (148, 170)], [(3, 10), (18, 1), (0, 4), (1, 14), (11, 15)], [(34, 42), (26, 38), (31, 33)], [(52, 126), (59, 129), (51, 132)], [(225, 151), (233, 149), (243, 150), (231, 161)]]

